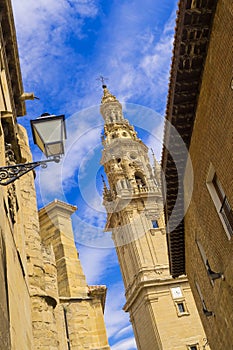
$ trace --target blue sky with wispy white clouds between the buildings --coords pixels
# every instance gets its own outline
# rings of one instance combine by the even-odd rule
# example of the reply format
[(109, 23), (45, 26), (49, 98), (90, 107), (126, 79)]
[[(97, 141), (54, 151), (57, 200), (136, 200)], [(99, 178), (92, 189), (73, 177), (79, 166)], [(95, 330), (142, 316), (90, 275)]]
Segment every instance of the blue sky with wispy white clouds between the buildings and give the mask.
[[(65, 114), (68, 139), (61, 164), (38, 170), (38, 206), (54, 198), (78, 206), (75, 240), (89, 284), (106, 284), (105, 319), (112, 350), (136, 349), (110, 233), (103, 234), (103, 172), (98, 76), (123, 103), (125, 116), (160, 159), (162, 121), (176, 0), (12, 0), (27, 102), (19, 122), (44, 112)], [(34, 159), (41, 153), (29, 141)]]

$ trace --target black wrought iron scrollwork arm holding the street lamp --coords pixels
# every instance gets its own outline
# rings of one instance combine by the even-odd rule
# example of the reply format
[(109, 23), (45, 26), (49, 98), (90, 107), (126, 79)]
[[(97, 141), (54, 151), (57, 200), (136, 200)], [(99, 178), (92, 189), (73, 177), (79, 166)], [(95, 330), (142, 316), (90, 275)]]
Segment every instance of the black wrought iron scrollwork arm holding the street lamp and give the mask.
[(35, 169), (38, 166), (41, 166), (42, 168), (47, 168), (47, 163), (50, 162), (59, 163), (60, 157), (54, 157), (51, 159), (41, 160), (37, 162), (21, 163), (0, 167), (0, 185), (9, 185), (10, 183), (14, 182), (18, 178), (20, 178), (21, 176)]

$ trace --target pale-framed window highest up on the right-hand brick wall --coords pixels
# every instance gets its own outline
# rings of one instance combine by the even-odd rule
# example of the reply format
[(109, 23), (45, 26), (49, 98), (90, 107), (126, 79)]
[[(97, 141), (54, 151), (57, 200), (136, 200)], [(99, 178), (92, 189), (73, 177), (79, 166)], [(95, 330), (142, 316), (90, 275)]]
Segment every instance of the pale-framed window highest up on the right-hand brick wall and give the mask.
[(228, 237), (231, 238), (233, 236), (233, 211), (212, 164), (206, 184), (223, 227)]

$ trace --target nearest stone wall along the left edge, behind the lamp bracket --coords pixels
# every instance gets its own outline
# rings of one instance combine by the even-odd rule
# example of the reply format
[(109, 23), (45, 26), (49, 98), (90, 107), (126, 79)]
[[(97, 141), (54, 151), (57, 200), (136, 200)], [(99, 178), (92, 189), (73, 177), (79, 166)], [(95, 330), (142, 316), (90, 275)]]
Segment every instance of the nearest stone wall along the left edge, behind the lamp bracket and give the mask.
[[(1, 1), (0, 25), (0, 166), (23, 161), (16, 114), (22, 92), (11, 3)], [(1, 13), (2, 15), (2, 13)], [(23, 103), (24, 105), (24, 103)], [(25, 107), (25, 106), (24, 106)], [(23, 108), (24, 109), (24, 108)], [(33, 349), (31, 300), (20, 181), (0, 186), (1, 349)], [(23, 330), (22, 330), (22, 327)]]

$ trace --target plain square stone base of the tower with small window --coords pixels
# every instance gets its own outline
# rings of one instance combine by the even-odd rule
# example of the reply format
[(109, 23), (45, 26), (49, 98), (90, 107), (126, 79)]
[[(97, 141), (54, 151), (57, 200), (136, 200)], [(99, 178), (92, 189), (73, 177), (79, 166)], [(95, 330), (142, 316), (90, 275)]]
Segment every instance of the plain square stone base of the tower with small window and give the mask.
[(205, 333), (186, 277), (145, 281), (126, 302), (138, 350), (202, 348)]

